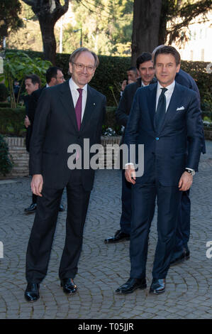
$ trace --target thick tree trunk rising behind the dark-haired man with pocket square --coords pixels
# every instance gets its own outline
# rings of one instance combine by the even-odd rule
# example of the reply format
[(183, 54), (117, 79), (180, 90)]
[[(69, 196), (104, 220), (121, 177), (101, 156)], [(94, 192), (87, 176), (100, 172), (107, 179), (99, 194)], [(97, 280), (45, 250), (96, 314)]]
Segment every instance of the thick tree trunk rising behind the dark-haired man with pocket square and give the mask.
[(134, 0), (131, 59), (133, 66), (141, 53), (152, 53), (158, 45), (161, 6), (162, 0)]

